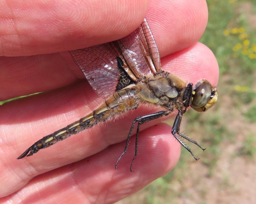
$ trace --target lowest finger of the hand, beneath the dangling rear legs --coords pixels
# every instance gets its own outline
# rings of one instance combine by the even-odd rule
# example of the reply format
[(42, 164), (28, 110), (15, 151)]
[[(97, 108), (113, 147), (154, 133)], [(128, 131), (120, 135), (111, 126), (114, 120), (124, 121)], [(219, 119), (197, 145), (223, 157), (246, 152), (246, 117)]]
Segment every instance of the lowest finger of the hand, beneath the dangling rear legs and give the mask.
[[(170, 134), (171, 127), (164, 123), (140, 132), (134, 172), (130, 172), (135, 142), (132, 137), (129, 150), (120, 160), (118, 170), (115, 169), (115, 163), (124, 150), (125, 142), (37, 176), (24, 189), (0, 201), (44, 203), (54, 199), (55, 202), (65, 200), (66, 203), (114, 203), (137, 192), (175, 166), (180, 155), (180, 145)], [(75, 197), (71, 196), (74, 194)]]

